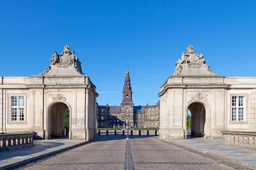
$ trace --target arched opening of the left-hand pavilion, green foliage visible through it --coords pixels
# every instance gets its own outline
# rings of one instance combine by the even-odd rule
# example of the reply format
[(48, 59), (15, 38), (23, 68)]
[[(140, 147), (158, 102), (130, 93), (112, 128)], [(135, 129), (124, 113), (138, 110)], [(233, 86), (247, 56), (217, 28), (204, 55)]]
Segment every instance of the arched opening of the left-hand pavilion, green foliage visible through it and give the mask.
[[(70, 120), (68, 106), (63, 102), (53, 104), (49, 108), (49, 139), (57, 137), (68, 137), (68, 135), (65, 134), (65, 126), (67, 126), (66, 121), (68, 121), (69, 126)], [(68, 131), (69, 129), (67, 132)]]

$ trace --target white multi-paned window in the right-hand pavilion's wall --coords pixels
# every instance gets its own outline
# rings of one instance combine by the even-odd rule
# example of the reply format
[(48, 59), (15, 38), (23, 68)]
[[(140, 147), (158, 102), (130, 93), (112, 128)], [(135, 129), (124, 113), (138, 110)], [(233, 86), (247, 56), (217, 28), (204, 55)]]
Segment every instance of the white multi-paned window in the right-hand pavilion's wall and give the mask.
[(232, 121), (244, 121), (245, 96), (232, 96)]

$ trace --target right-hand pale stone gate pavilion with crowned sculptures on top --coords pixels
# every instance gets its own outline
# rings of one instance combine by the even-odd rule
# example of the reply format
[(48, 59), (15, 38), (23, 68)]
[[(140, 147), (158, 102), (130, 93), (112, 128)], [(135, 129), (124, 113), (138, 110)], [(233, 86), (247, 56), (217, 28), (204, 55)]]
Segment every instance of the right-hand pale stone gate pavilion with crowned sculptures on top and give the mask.
[[(195, 53), (192, 46), (182, 53), (173, 75), (158, 94), (159, 138), (186, 139), (188, 110), (193, 137), (214, 139), (221, 138), (223, 132), (230, 135), (256, 131), (256, 77), (216, 75), (209, 67), (202, 52)], [(239, 143), (242, 140), (239, 136), (241, 133), (232, 137), (232, 141), (231, 136), (227, 140)], [(255, 145), (256, 137), (243, 140)]]

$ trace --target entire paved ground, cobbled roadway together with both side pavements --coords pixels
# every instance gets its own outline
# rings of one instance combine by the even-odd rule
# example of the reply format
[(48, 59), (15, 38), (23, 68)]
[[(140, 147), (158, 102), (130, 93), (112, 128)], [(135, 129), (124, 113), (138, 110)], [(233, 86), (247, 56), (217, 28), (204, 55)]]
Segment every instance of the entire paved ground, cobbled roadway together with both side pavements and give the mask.
[(126, 135), (120, 134), (117, 136), (112, 134), (108, 136), (101, 135), (91, 142), (68, 139), (35, 140), (35, 146), (32, 148), (1, 152), (0, 169), (256, 169), (255, 150), (224, 146), (220, 139), (193, 138), (162, 141), (155, 135), (132, 135), (129, 136), (129, 139), (126, 139), (126, 137)]

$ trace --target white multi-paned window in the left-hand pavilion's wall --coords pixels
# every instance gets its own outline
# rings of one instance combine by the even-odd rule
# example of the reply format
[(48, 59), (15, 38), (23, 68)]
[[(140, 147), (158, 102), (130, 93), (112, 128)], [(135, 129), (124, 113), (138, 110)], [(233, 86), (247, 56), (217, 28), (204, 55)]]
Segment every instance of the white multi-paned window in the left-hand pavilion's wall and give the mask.
[(11, 96), (11, 121), (24, 121), (24, 96)]

